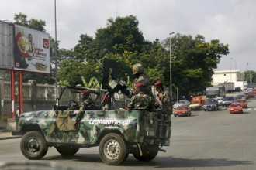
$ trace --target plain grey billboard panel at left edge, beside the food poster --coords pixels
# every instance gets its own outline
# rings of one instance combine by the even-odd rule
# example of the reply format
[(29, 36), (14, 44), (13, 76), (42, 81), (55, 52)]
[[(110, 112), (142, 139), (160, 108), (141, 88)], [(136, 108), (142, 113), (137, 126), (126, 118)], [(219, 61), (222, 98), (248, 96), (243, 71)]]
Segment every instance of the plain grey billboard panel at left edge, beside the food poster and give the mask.
[(13, 69), (13, 25), (0, 21), (0, 69)]

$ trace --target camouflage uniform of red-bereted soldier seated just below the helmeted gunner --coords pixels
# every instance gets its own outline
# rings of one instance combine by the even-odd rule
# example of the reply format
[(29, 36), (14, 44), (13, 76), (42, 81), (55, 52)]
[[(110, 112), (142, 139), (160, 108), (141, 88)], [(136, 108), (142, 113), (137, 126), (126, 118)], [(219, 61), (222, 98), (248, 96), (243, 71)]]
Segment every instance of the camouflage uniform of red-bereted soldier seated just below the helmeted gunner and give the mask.
[(127, 107), (129, 110), (150, 110), (150, 101), (149, 95), (140, 92), (131, 98)]

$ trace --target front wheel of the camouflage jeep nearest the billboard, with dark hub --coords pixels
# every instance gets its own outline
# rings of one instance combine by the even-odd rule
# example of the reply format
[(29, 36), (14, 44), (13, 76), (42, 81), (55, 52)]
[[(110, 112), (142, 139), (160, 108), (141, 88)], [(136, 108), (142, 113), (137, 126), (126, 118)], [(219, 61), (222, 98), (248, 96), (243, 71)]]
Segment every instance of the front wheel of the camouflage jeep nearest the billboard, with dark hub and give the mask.
[(20, 141), (22, 154), (31, 160), (38, 160), (47, 154), (47, 141), (40, 131), (29, 131)]

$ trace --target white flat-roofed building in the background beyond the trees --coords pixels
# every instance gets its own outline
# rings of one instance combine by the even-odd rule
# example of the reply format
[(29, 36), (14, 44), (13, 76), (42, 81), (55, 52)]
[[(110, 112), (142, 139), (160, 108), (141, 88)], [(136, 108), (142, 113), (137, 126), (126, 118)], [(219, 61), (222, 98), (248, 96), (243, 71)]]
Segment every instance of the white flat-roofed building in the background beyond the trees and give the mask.
[(244, 74), (240, 70), (222, 70), (214, 71), (212, 84), (217, 83), (235, 83), (244, 81)]

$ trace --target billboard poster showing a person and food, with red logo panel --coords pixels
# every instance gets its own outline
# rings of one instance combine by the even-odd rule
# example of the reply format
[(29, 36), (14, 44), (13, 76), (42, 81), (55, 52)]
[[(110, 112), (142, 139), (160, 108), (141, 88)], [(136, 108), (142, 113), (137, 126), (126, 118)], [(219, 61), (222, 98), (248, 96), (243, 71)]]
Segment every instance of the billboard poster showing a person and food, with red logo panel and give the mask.
[(50, 36), (15, 25), (14, 70), (50, 73)]

